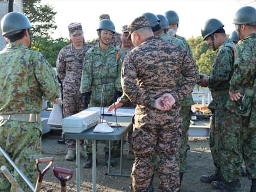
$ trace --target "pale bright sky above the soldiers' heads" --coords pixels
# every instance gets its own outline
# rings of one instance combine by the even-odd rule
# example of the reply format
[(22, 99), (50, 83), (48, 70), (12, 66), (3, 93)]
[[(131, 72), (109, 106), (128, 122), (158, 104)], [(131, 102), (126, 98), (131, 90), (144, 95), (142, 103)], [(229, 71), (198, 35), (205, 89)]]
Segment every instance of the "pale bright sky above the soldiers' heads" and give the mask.
[(51, 35), (55, 38), (69, 38), (67, 26), (80, 22), (83, 27), (84, 39), (97, 37), (98, 17), (108, 13), (117, 32), (123, 25), (145, 12), (165, 14), (174, 10), (179, 15), (178, 35), (188, 39), (201, 35), (201, 28), (210, 18), (219, 19), (224, 24), (227, 34), (234, 30), (233, 17), (242, 6), (256, 8), (255, 0), (42, 0), (52, 5), (56, 11), (55, 21), (58, 26)]

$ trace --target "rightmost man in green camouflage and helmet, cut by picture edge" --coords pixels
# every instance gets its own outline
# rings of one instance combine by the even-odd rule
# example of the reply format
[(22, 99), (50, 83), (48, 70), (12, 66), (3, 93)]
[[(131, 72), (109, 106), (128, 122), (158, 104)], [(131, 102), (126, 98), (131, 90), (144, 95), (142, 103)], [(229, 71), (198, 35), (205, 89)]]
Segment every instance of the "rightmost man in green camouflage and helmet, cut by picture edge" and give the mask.
[(256, 191), (256, 9), (240, 8), (234, 17), (240, 41), (235, 48), (234, 72), (230, 80), (230, 99), (224, 115), (225, 132), (221, 153), (221, 170), (225, 191), (240, 191), (240, 166), (243, 157), (250, 192)]

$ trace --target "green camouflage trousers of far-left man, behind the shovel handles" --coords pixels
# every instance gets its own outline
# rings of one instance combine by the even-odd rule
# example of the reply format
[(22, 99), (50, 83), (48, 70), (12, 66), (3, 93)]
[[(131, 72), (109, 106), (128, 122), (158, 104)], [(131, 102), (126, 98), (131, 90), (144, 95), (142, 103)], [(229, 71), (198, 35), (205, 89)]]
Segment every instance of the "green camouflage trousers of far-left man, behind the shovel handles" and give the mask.
[[(35, 159), (42, 157), (41, 129), (39, 123), (5, 121), (0, 124), (0, 145), (33, 184), (38, 176)], [(0, 166), (2, 165), (9, 169), (24, 191), (31, 190), (0, 152)], [(0, 191), (17, 191), (13, 186), (11, 187), (2, 172), (0, 173)]]

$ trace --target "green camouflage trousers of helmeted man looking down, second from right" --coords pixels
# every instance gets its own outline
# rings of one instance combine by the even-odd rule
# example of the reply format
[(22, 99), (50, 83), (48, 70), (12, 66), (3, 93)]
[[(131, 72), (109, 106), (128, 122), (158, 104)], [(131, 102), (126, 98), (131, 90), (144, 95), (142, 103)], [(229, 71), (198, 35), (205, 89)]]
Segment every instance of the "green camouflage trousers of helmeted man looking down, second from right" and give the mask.
[(212, 120), (210, 129), (210, 139), (209, 145), (211, 150), (212, 159), (214, 160), (214, 165), (219, 168), (220, 153), (221, 151), (221, 140), (223, 139), (223, 131), (226, 129), (224, 127), (224, 114), (227, 110), (224, 108), (217, 108), (212, 110)]

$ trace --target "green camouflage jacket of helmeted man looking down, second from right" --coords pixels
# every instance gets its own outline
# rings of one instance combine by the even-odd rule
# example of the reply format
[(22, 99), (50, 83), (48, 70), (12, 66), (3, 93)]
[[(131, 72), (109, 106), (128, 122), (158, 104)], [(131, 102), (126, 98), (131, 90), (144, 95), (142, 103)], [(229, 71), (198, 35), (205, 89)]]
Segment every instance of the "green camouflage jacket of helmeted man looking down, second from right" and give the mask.
[(233, 72), (234, 63), (234, 43), (229, 38), (223, 42), (217, 49), (217, 55), (212, 64), (212, 73), (208, 78), (208, 87), (214, 97), (219, 91), (226, 91), (211, 101), (209, 108), (225, 108), (227, 99), (229, 99), (229, 81)]

